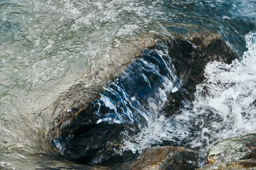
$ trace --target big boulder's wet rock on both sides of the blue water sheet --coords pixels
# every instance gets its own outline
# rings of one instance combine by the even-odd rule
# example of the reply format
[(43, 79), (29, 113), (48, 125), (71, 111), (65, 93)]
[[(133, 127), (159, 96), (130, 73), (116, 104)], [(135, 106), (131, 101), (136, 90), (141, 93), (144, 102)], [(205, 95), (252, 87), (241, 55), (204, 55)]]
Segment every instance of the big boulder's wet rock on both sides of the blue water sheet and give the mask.
[[(163, 109), (172, 111), (171, 113), (177, 112), (177, 109), (182, 107), (184, 99), (193, 100), (195, 85), (204, 80), (204, 67), (207, 62), (216, 59), (230, 63), (238, 58), (216, 34), (212, 33), (192, 34), (185, 38), (176, 36), (169, 40), (161, 40), (168, 45), (175, 73), (183, 82), (183, 88), (168, 94), (167, 104)], [(145, 40), (142, 42), (147, 48), (157, 49), (157, 46), (152, 45), (155, 42), (154, 39), (148, 39), (147, 43)], [(137, 51), (140, 51), (138, 49), (143, 45), (138, 46)], [(121, 62), (122, 66), (114, 65), (113, 69), (107, 71), (104, 68), (96, 69), (98, 73), (93, 76), (90, 73), (87, 74), (85, 82), (73, 86), (67, 93), (61, 95), (52, 108), (54, 116), (47, 136), (52, 145), (60, 149), (66, 159), (83, 164), (109, 165), (113, 160), (115, 163), (116, 161), (122, 163), (134, 160), (138, 156), (129, 151), (125, 151), (120, 156), (123, 146), (120, 134), (125, 130), (123, 125), (107, 123), (95, 125), (97, 120), (93, 119), (90, 106), (94, 99), (99, 98), (103, 85), (120, 75), (128, 63), (136, 58), (137, 51), (126, 54), (133, 57), (128, 57), (125, 62)], [(114, 54), (122, 56), (118, 52)], [(91, 87), (90, 81), (98, 81), (99, 78), (102, 81), (97, 86)]]

